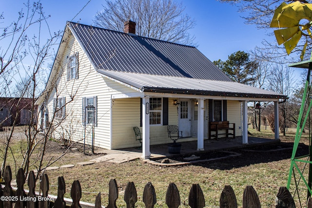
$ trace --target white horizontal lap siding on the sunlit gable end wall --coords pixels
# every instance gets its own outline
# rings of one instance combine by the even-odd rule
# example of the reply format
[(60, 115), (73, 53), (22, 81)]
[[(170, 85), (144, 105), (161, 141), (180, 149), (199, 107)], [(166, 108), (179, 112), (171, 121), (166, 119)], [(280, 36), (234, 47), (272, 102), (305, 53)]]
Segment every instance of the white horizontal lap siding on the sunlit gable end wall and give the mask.
[[(77, 52), (79, 65), (78, 79), (67, 81), (67, 56)], [(68, 102), (70, 100), (70, 95), (76, 95), (74, 96), (74, 100), (66, 105), (66, 120), (56, 128), (53, 136), (57, 139), (67, 137), (67, 139), (72, 139), (73, 141), (79, 141), (81, 143), (83, 143), (84, 138), (86, 138), (86, 143), (91, 144), (91, 127), (87, 126), (86, 133), (84, 133), (84, 125), (82, 125), (82, 97), (97, 96), (98, 126), (95, 127), (94, 131), (94, 144), (97, 147), (111, 149), (111, 95), (119, 93), (117, 90), (122, 93), (137, 91), (98, 75), (73, 36), (68, 40), (68, 47), (66, 47), (62, 56), (61, 65), (62, 67), (59, 68), (61, 76), (57, 83), (59, 97), (65, 96), (66, 102)], [(53, 97), (56, 97), (55, 93), (52, 93), (48, 103), (50, 120), (53, 115)], [(59, 120), (55, 119), (55, 123), (58, 121)]]

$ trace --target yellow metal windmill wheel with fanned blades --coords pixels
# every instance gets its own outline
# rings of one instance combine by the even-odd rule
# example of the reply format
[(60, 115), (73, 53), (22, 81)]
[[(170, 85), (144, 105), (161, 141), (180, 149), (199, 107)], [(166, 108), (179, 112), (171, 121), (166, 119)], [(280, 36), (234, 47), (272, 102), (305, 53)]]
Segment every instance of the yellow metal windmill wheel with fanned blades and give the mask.
[[(301, 19), (307, 19), (309, 23), (300, 25), (299, 22)], [(312, 25), (311, 20), (312, 4), (301, 3), (299, 1), (290, 4), (283, 2), (276, 8), (270, 27), (278, 28), (278, 30), (274, 31), (275, 38), (279, 45), (284, 43), (288, 55), (297, 46), (302, 35), (312, 37), (309, 29)], [(303, 55), (305, 49), (306, 47), (302, 50)], [(301, 54), (301, 57), (303, 55)]]

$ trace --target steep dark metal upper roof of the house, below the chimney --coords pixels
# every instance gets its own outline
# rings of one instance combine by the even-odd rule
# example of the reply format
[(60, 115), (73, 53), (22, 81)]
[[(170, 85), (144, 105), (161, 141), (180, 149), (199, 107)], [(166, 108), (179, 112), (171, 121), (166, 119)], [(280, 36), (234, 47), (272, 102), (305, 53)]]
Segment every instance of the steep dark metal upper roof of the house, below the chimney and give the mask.
[(96, 69), (232, 81), (195, 47), (68, 22)]

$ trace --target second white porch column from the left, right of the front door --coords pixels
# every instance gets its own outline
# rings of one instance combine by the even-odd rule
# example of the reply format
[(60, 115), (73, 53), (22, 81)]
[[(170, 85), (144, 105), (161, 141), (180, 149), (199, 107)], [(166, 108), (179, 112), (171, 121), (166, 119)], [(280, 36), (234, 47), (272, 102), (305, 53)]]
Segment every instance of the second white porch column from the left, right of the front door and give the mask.
[(197, 151), (204, 150), (204, 99), (198, 99), (197, 108)]

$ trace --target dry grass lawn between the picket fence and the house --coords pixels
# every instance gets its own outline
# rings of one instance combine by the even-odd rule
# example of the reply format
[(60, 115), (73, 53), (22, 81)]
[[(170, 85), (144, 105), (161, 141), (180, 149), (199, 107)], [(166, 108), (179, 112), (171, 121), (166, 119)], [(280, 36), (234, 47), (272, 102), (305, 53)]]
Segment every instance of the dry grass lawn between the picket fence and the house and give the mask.
[[(256, 132), (249, 129), (253, 136), (273, 138), (269, 130)], [(280, 136), (281, 141), (292, 145), (294, 131), (288, 131), (286, 136)], [(304, 135), (301, 145), (307, 147), (309, 139)], [(304, 148), (303, 148), (304, 149)], [(279, 187), (287, 185), (292, 149), (285, 151), (261, 152), (231, 150), (242, 153), (241, 156), (206, 162), (196, 165), (158, 167), (142, 160), (114, 164), (101, 162), (88, 166), (75, 166), (74, 168), (48, 170), (50, 194), (57, 195), (58, 176), (63, 176), (66, 182), (65, 197), (70, 198), (70, 189), (74, 180), (79, 180), (82, 188), (81, 201), (94, 203), (98, 192), (101, 192), (102, 205), (108, 203), (108, 184), (110, 179), (116, 179), (119, 191), (117, 207), (126, 207), (123, 194), (128, 182), (136, 185), (138, 202), (137, 207), (145, 207), (142, 202), (143, 189), (146, 183), (152, 182), (156, 189), (156, 208), (167, 207), (165, 194), (169, 183), (174, 182), (179, 189), (181, 206), (188, 208), (188, 195), (192, 184), (199, 184), (203, 190), (206, 207), (218, 207), (219, 197), (225, 185), (231, 185), (236, 194), (238, 206), (242, 206), (242, 196), (247, 185), (252, 185), (258, 193), (262, 207), (274, 207), (275, 196)], [(52, 154), (52, 153), (51, 153)], [(55, 165), (75, 164), (81, 160), (88, 161), (94, 156), (82, 153), (69, 153), (61, 158)], [(13, 171), (12, 171), (13, 172)], [(13, 176), (14, 178), (14, 176)], [(25, 189), (27, 186), (25, 186)], [(39, 185), (36, 188), (38, 189)], [(291, 185), (293, 188), (294, 185)], [(293, 191), (291, 191), (293, 192)], [(300, 187), (300, 194), (305, 201), (306, 188)], [(295, 198), (297, 207), (298, 199)]]

